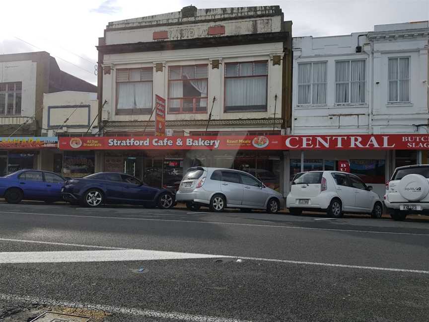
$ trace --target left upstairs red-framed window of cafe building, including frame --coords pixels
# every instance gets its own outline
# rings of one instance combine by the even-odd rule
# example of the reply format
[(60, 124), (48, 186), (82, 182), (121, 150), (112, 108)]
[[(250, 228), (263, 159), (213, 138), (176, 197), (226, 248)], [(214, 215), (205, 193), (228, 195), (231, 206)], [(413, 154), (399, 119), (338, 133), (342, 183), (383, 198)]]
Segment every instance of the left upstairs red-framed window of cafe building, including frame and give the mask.
[(150, 114), (152, 112), (153, 68), (116, 71), (116, 113)]

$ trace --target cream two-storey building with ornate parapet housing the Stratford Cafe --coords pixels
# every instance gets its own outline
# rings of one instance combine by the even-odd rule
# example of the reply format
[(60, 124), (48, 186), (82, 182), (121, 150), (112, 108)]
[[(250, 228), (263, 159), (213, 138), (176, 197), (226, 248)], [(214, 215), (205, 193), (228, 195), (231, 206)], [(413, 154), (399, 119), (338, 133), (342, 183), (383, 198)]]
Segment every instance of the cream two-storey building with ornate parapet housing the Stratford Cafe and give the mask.
[[(291, 22), (284, 21), (279, 6), (188, 6), (114, 21), (97, 49), (104, 137), (154, 135), (155, 95), (165, 99), (165, 133), (173, 139), (253, 140), (290, 127)], [(124, 171), (161, 186), (181, 179), (183, 168), (191, 165), (234, 167), (282, 190), (283, 161), (282, 151), (239, 146), (235, 151), (112, 146), (96, 152), (95, 168)]]

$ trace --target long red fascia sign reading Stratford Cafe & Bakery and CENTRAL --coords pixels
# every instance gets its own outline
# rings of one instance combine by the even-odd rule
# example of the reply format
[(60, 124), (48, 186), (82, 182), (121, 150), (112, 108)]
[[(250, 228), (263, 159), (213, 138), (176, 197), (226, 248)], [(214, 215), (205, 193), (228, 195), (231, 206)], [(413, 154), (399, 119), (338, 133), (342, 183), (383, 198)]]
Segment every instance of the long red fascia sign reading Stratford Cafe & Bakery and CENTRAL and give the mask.
[(60, 137), (60, 150), (429, 150), (429, 135)]

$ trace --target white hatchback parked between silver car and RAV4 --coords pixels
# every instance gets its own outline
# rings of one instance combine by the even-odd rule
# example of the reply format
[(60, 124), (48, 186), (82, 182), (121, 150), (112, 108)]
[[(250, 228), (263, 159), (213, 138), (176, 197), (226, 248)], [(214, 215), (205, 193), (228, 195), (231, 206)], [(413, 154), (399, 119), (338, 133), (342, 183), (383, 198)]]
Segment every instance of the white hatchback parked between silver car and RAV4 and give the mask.
[(383, 204), (354, 174), (338, 171), (300, 172), (292, 180), (286, 198), (286, 207), (291, 214), (302, 211), (323, 211), (330, 217), (342, 217), (343, 212), (367, 213), (372, 218), (381, 218)]

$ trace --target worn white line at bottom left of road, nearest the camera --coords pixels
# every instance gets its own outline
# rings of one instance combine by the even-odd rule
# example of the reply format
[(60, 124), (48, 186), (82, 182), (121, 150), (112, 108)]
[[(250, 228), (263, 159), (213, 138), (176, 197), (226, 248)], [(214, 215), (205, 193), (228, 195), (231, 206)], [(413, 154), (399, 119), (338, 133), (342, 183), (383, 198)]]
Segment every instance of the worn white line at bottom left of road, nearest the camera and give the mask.
[(180, 312), (160, 312), (152, 310), (144, 310), (137, 308), (124, 308), (110, 305), (100, 304), (88, 304), (81, 302), (68, 302), (68, 301), (57, 301), (52, 299), (37, 298), (32, 296), (19, 296), (14, 294), (1, 294), (0, 300), (3, 301), (18, 301), (24, 303), (31, 303), (44, 306), (59, 306), (59, 307), (71, 307), (79, 309), (97, 310), (116, 314), (132, 315), (146, 318), (159, 318), (159, 319), (172, 319), (186, 322), (250, 322), (246, 320), (227, 319), (220, 317), (210, 317), (186, 314)]

